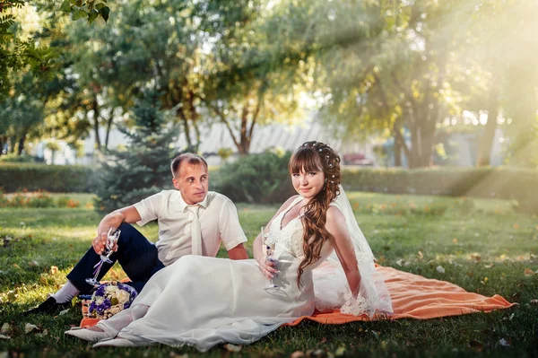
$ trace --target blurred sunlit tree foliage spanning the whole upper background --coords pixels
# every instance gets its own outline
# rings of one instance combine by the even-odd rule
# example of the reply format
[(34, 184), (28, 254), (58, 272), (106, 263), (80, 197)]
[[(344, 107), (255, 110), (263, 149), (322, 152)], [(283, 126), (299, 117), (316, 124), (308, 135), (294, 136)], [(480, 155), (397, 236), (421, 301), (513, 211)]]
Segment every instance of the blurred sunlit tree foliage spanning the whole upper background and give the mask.
[(392, 140), (395, 166), (448, 163), (455, 131), (489, 166), (502, 128), (506, 163), (536, 170), (537, 15), (522, 0), (1, 1), (0, 160), (91, 133), (110, 158), (143, 102), (184, 135), (170, 153), (221, 123), (246, 155), (260, 126), (316, 111), (341, 138)]

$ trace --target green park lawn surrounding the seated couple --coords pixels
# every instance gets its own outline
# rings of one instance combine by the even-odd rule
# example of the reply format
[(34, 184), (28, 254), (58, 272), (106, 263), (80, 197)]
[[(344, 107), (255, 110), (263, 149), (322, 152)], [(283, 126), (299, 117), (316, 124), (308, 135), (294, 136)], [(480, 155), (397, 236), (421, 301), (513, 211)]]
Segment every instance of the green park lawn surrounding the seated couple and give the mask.
[[(400, 319), (339, 326), (303, 322), (297, 327), (281, 327), (243, 346), (238, 354), (229, 353), (223, 346), (207, 354), (190, 347), (163, 345), (93, 351), (90, 344), (64, 336), (66, 329), (80, 321), (79, 306), (57, 317), (23, 317), (19, 312), (37, 305), (65, 282), (66, 273), (89, 247), (100, 215), (85, 205), (76, 209), (0, 209), (0, 324), (8, 323), (12, 329), (4, 333), (10, 339), (0, 339), (0, 356), (6, 351), (25, 356), (88, 357), (290, 356), (309, 350), (320, 350), (311, 356), (538, 354), (538, 304), (532, 301), (538, 299), (535, 216), (515, 213), (511, 203), (500, 200), (348, 195), (379, 264), (447, 280), (469, 292), (488, 296), (499, 293), (519, 304), (492, 313), (422, 321)], [(239, 219), (249, 239), (249, 254), (260, 226), (276, 208), (238, 205)], [(141, 230), (148, 238), (156, 238), (156, 225)], [(221, 250), (219, 256), (226, 254)], [(58, 272), (52, 273), (51, 266), (57, 266)], [(445, 272), (438, 272), (438, 266)], [(105, 278), (123, 275), (115, 266)], [(40, 331), (26, 334), (26, 323), (37, 325)]]

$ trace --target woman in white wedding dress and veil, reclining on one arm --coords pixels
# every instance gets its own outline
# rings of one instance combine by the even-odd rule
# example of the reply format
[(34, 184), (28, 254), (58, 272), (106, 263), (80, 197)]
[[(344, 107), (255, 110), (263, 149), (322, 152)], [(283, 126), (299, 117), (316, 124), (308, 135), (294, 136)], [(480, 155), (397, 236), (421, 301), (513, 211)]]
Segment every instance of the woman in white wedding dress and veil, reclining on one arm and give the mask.
[[(256, 237), (256, 260), (179, 258), (152, 276), (131, 308), (65, 334), (100, 341), (94, 347), (161, 343), (204, 352), (224, 342), (250, 344), (315, 309), (391, 312), (340, 186), (340, 157), (326, 144), (307, 142), (288, 167), (299, 195), (274, 214), (265, 237)], [(267, 245), (274, 246), (273, 260), (264, 255)], [(267, 288), (269, 279), (276, 287)]]

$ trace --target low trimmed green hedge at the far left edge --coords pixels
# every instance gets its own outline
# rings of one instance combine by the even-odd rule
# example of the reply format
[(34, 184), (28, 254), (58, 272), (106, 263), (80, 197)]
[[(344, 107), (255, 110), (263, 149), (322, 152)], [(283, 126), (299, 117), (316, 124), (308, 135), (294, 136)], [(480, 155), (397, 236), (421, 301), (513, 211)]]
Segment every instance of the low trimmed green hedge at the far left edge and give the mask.
[(49, 192), (88, 192), (92, 170), (77, 165), (0, 163), (0, 185), (13, 193), (24, 188)]

